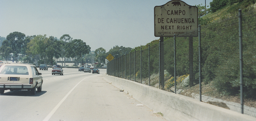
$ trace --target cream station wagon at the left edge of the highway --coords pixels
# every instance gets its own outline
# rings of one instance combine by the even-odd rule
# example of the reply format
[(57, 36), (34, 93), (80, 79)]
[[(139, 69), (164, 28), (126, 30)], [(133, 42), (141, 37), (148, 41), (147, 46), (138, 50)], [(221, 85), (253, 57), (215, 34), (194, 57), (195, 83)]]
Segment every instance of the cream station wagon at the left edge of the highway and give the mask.
[(3, 64), (0, 68), (0, 94), (4, 90), (28, 90), (32, 95), (42, 91), (43, 77), (32, 64)]

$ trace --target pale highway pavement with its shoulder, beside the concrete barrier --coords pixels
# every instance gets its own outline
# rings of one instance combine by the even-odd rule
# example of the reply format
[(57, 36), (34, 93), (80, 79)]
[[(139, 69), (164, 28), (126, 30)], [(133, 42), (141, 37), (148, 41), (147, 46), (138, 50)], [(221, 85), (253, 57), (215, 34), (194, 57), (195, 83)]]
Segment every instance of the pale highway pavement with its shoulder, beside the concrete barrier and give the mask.
[(166, 121), (157, 112), (104, 80), (100, 74), (63, 68), (52, 75), (39, 70), (42, 92), (5, 90), (0, 95), (0, 121)]

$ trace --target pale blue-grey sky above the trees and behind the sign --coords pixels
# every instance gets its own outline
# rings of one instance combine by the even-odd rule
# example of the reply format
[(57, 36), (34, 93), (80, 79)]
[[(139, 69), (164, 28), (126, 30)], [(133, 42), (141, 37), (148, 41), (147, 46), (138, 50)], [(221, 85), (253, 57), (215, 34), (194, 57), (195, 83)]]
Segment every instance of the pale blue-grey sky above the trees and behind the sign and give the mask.
[[(170, 0), (0, 0), (0, 36), (21, 32), (58, 39), (69, 34), (91, 51), (118, 45), (135, 48), (158, 40), (154, 7)], [(182, 0), (188, 5), (212, 0)], [(210, 8), (210, 7), (207, 7)]]

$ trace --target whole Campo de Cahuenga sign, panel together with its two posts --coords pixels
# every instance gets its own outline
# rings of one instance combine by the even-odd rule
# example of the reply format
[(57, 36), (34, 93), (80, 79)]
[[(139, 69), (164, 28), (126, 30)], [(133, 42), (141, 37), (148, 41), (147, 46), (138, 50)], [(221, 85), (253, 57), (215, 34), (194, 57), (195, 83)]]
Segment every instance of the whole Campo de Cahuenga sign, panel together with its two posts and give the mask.
[[(155, 36), (159, 42), (159, 88), (164, 87), (164, 51), (163, 37), (189, 37), (189, 86), (193, 85), (193, 37), (198, 36), (198, 8), (180, 0), (172, 0), (154, 8)], [(175, 80), (176, 81), (176, 80)]]

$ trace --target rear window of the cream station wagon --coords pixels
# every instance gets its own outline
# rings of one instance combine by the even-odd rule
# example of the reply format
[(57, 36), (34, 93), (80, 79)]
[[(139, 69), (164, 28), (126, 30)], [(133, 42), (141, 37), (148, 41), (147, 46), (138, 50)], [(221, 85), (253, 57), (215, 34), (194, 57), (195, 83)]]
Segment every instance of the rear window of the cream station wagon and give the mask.
[(26, 66), (7, 65), (4, 66), (0, 74), (28, 75), (28, 68)]

